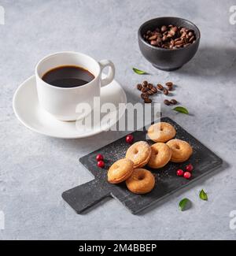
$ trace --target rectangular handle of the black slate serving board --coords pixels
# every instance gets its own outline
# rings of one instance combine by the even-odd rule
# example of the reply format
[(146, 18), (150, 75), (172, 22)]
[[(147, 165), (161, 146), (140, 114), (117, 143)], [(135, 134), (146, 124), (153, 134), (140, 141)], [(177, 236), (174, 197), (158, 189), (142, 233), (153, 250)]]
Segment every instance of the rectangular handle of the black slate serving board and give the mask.
[(99, 180), (91, 180), (86, 184), (79, 185), (62, 194), (62, 198), (76, 213), (83, 213), (91, 206), (100, 202), (103, 198), (109, 197), (110, 191), (101, 185)]

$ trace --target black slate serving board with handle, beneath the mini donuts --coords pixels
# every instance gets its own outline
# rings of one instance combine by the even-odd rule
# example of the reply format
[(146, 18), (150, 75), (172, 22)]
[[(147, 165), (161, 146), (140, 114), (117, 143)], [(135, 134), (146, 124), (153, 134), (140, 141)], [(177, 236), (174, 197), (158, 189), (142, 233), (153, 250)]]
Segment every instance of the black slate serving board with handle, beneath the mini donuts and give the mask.
[[(161, 121), (172, 124), (176, 129), (176, 139), (186, 140), (194, 149), (194, 154), (189, 161), (185, 163), (176, 164), (168, 163), (162, 169), (149, 169), (156, 178), (156, 186), (153, 191), (146, 195), (135, 195), (127, 190), (126, 185), (118, 184), (113, 185), (107, 182), (107, 171), (112, 163), (120, 158), (124, 158), (129, 145), (125, 142), (125, 137), (116, 140), (109, 145), (102, 147), (99, 150), (87, 154), (79, 161), (94, 175), (94, 180), (87, 184), (74, 187), (62, 194), (62, 198), (76, 213), (82, 213), (90, 206), (94, 206), (100, 202), (102, 198), (112, 196), (118, 199), (124, 206), (127, 207), (131, 213), (138, 213), (145, 210), (147, 207), (159, 202), (161, 199), (166, 198), (175, 191), (179, 191), (190, 183), (200, 179), (202, 176), (211, 173), (222, 164), (222, 160), (216, 156), (211, 150), (202, 145), (197, 139), (186, 132), (183, 128), (176, 124), (168, 117), (164, 117)], [(136, 131), (132, 133), (135, 137), (135, 142), (146, 140), (146, 130)], [(149, 144), (153, 144), (151, 140), (147, 140)], [(96, 155), (103, 154), (105, 157), (105, 169), (100, 169), (97, 166)], [(190, 180), (183, 177), (176, 176), (177, 169), (183, 169), (188, 163), (194, 165), (193, 176)]]

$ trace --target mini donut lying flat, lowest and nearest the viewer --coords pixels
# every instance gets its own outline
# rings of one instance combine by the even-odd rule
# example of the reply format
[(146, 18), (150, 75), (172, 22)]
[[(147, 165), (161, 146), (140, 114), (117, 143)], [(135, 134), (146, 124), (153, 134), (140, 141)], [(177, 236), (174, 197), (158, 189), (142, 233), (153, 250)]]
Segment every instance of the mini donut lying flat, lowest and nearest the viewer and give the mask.
[(155, 178), (146, 169), (135, 169), (126, 180), (127, 188), (135, 194), (146, 194), (153, 190)]

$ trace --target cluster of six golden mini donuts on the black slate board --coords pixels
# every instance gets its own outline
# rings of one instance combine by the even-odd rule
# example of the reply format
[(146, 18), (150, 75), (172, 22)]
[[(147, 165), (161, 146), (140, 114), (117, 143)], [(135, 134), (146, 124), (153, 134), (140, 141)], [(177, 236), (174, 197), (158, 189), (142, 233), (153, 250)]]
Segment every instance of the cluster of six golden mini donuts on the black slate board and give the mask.
[[(116, 161), (108, 172), (111, 184), (126, 182), (127, 188), (135, 194), (146, 194), (153, 190), (155, 178), (147, 169), (160, 169), (169, 161), (183, 162), (193, 153), (192, 147), (175, 137), (175, 128), (168, 123), (160, 122), (149, 127), (149, 139), (155, 144), (149, 146), (145, 141), (134, 143), (128, 148), (126, 157)], [(167, 142), (167, 143), (166, 143)]]

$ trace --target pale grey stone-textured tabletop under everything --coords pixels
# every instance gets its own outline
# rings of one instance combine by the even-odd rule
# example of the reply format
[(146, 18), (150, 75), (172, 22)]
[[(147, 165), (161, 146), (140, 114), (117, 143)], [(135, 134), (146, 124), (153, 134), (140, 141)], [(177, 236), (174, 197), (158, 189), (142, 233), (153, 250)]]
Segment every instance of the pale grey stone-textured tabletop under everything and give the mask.
[[(230, 211), (236, 210), (236, 25), (229, 24), (232, 1), (1, 1), (6, 24), (0, 25), (0, 210), (6, 227), (0, 239), (236, 239)], [(145, 20), (179, 16), (201, 29), (196, 57), (177, 72), (160, 72), (142, 58), (137, 30)], [(88, 139), (52, 139), (24, 128), (13, 114), (13, 93), (34, 72), (36, 62), (59, 50), (77, 50), (116, 65), (129, 102), (143, 79), (131, 67), (145, 69), (153, 83), (178, 84), (175, 98), (191, 116), (163, 106), (164, 115), (186, 128), (223, 158), (223, 169), (183, 194), (133, 216), (114, 199), (76, 215), (61, 192), (92, 177), (80, 156), (124, 132)], [(157, 98), (161, 101), (161, 98)], [(208, 202), (198, 191), (208, 192)], [(178, 202), (193, 207), (179, 212)]]

